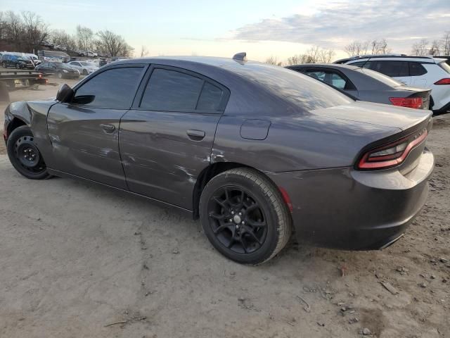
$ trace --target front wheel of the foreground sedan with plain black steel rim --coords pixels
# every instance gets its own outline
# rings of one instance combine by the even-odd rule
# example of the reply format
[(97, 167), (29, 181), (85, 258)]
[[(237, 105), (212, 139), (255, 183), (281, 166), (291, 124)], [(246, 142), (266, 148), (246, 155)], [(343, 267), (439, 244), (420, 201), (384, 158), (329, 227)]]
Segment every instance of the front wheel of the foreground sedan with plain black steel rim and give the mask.
[(39, 149), (34, 144), (34, 137), (30, 127), (26, 125), (17, 127), (8, 137), (6, 144), (11, 164), (21, 175), (30, 180), (45, 180), (51, 175)]

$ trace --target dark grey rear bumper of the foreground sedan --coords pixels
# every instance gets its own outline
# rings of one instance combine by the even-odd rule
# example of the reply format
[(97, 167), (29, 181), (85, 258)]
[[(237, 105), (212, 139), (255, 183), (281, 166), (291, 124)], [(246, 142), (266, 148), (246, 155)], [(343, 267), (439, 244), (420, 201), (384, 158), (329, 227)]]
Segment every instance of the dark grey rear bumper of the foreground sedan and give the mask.
[(425, 149), (407, 174), (334, 168), (269, 176), (290, 196), (299, 242), (373, 250), (395, 242), (420, 212), (434, 163)]

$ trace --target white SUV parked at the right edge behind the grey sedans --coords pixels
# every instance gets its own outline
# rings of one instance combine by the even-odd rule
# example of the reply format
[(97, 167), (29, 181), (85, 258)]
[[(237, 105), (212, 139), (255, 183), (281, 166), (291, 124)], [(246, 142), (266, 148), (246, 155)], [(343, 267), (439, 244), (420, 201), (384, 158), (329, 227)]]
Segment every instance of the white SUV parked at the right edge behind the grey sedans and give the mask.
[(335, 63), (368, 68), (409, 86), (430, 88), (432, 111), (450, 111), (450, 65), (443, 58), (404, 55), (357, 56)]

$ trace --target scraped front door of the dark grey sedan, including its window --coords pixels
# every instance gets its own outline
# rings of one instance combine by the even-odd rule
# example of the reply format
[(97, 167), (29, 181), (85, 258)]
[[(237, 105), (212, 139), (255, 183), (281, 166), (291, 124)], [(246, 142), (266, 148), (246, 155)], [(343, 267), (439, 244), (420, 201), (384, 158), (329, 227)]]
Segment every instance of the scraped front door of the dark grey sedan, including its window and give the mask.
[(119, 123), (143, 70), (143, 65), (104, 70), (76, 88), (72, 102), (51, 107), (47, 124), (54, 161), (49, 168), (127, 189)]

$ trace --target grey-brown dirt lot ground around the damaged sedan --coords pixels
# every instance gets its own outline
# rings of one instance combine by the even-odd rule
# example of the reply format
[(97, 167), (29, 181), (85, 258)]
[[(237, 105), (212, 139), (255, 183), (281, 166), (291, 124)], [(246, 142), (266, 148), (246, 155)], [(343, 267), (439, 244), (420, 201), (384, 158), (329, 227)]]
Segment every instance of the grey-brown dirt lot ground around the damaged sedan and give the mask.
[(26, 180), (2, 148), (0, 337), (450, 337), (449, 144), (450, 116), (437, 117), (428, 204), (390, 248), (293, 242), (255, 268), (144, 199)]

